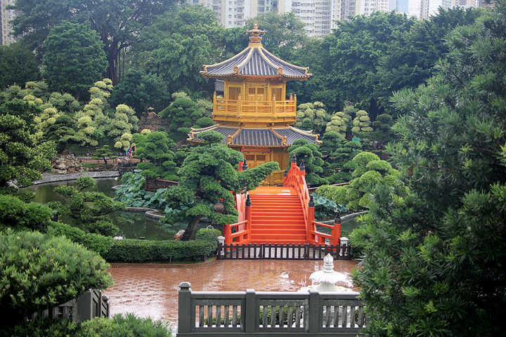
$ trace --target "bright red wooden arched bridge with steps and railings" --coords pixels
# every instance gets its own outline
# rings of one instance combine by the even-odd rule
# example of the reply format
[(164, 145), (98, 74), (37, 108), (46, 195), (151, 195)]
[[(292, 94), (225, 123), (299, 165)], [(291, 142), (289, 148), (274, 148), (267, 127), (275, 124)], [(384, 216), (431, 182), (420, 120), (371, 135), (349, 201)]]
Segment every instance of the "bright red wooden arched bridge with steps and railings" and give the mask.
[[(341, 224), (315, 221), (305, 176), (304, 167), (292, 161), (283, 186), (260, 186), (235, 194), (239, 220), (224, 227), (225, 244), (339, 245)], [(319, 227), (330, 228), (330, 234), (318, 231)]]

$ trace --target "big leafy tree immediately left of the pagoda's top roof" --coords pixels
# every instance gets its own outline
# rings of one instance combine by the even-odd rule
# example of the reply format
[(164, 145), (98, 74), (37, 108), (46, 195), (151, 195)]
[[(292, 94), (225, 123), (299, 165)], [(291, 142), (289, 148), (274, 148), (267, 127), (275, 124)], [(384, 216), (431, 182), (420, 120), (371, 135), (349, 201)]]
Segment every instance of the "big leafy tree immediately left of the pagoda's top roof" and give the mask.
[(209, 8), (175, 5), (143, 29), (131, 51), (133, 67), (162, 79), (169, 93), (207, 95), (213, 87), (199, 71), (221, 60), (223, 29)]

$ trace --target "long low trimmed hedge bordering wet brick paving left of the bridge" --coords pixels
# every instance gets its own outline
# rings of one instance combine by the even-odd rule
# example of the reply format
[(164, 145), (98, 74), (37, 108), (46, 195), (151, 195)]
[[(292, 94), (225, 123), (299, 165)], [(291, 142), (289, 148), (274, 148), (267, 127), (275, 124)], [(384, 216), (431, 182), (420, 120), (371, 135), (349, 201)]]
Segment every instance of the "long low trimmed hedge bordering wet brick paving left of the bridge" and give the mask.
[(103, 257), (110, 262), (160, 262), (198, 260), (216, 252), (216, 243), (205, 240), (115, 240)]

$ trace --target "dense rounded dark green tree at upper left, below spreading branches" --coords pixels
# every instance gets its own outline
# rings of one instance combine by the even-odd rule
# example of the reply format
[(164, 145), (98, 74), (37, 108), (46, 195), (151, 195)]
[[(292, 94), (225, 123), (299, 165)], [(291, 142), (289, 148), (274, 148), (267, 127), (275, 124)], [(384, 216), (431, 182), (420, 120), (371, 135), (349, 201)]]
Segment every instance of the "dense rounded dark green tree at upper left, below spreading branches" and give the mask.
[(100, 37), (86, 25), (63, 22), (51, 29), (44, 45), (42, 75), (54, 91), (79, 99), (107, 67)]

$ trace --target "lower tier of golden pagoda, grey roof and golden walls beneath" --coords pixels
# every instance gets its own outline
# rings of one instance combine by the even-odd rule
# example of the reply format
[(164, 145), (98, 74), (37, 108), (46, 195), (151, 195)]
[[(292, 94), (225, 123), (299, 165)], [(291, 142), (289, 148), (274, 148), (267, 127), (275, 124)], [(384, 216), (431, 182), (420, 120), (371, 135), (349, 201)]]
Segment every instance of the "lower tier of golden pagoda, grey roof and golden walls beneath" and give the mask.
[(277, 161), (281, 171), (275, 171), (271, 176), (268, 176), (264, 185), (283, 185), (283, 171), (290, 164), (288, 147), (295, 140), (305, 139), (309, 143), (320, 143), (318, 135), (292, 126), (285, 128), (234, 128), (219, 124), (207, 128), (192, 128), (188, 135), (188, 141), (192, 144), (202, 144), (203, 140), (198, 135), (203, 131), (216, 131), (225, 136), (223, 143), (242, 152), (249, 168), (268, 161)]

